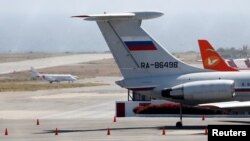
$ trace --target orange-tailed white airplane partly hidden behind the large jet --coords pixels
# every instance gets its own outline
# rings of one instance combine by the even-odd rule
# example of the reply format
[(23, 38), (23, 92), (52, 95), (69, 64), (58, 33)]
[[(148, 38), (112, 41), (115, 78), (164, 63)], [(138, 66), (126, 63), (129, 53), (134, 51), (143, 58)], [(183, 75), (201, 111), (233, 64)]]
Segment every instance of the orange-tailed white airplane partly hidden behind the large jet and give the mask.
[[(207, 40), (198, 40), (203, 67), (216, 71), (250, 70), (249, 59), (223, 59)], [(237, 65), (236, 65), (237, 64)]]

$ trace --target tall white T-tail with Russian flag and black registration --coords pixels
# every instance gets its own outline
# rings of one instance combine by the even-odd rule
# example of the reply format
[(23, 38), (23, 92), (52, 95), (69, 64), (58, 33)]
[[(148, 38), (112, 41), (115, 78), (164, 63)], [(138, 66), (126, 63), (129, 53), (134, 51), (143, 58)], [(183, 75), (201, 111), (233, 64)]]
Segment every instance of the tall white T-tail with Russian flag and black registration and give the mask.
[(73, 16), (96, 21), (124, 78), (201, 72), (170, 54), (142, 27), (142, 20), (159, 12)]

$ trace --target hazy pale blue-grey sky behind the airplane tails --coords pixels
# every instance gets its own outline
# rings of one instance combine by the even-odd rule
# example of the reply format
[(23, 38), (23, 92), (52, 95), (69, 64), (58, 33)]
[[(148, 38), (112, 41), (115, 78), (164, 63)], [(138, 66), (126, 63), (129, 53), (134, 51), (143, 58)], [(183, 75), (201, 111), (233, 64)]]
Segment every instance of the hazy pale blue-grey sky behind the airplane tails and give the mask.
[(250, 46), (249, 0), (0, 0), (0, 52), (106, 51), (94, 22), (72, 15), (156, 10), (143, 27), (171, 52)]

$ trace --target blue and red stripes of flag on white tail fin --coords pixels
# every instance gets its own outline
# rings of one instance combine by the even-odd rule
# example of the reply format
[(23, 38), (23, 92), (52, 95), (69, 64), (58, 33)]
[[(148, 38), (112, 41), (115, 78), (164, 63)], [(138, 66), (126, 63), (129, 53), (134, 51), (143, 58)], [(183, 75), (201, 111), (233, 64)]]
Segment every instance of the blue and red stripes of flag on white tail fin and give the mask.
[(130, 51), (150, 51), (157, 50), (152, 41), (125, 41)]

